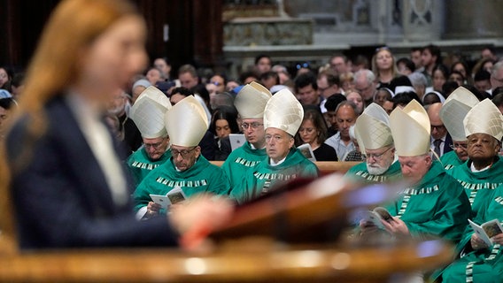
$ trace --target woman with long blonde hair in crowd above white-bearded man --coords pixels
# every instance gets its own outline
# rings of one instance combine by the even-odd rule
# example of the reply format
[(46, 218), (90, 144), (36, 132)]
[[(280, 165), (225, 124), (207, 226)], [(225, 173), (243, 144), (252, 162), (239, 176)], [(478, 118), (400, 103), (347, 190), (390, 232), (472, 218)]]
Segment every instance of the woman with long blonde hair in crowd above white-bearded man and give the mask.
[(395, 57), (389, 48), (381, 47), (375, 50), (372, 57), (372, 72), (379, 83), (378, 88), (388, 88), (391, 80), (399, 76)]

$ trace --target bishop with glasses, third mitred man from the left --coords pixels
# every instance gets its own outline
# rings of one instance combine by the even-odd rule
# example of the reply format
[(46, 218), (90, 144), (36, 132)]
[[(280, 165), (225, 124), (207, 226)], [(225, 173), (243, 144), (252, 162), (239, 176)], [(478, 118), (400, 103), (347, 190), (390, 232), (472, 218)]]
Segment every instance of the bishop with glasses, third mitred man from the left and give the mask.
[(271, 97), (267, 88), (252, 81), (241, 88), (234, 100), (246, 142), (240, 148), (234, 149), (221, 165), (233, 188), (242, 182), (244, 172), (267, 156), (264, 109)]

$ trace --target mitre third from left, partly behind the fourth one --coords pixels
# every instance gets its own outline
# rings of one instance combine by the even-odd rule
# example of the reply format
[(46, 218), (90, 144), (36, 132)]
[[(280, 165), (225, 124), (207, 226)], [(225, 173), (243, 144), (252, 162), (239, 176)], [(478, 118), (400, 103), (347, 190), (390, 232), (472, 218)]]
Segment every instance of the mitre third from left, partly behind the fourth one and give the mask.
[(267, 88), (252, 81), (237, 93), (234, 105), (241, 119), (259, 119), (264, 117), (264, 109), (271, 97)]

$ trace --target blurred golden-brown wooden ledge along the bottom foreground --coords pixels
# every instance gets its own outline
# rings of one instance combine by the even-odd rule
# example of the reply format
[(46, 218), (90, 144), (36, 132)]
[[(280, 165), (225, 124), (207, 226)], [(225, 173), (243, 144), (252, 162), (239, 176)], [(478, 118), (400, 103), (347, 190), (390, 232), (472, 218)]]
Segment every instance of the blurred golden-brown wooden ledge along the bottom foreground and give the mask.
[[(243, 245), (247, 243), (238, 247)], [(439, 241), (364, 249), (238, 247), (206, 256), (173, 249), (26, 252), (0, 256), (0, 281), (388, 282), (397, 273), (432, 270), (452, 256), (450, 247)]]

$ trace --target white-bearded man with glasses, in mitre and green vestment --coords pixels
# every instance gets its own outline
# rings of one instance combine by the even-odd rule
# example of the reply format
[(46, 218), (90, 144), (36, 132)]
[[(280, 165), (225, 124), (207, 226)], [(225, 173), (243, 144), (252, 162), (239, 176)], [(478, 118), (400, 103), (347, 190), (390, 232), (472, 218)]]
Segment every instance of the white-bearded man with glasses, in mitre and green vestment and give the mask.
[(356, 119), (354, 132), (366, 162), (354, 165), (346, 172), (346, 177), (366, 183), (402, 178), (390, 119), (383, 107), (376, 103), (368, 105)]

